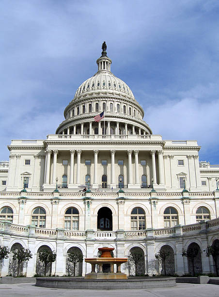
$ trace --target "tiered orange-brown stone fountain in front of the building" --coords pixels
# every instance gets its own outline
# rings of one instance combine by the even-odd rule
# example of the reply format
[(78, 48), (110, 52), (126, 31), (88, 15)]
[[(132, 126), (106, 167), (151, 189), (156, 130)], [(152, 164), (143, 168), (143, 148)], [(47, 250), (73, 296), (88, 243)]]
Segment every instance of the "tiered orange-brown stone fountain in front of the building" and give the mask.
[[(125, 273), (121, 272), (121, 264), (128, 261), (127, 258), (112, 258), (111, 251), (114, 250), (113, 247), (100, 247), (98, 248), (102, 252), (100, 258), (85, 258), (86, 263), (91, 264), (91, 272), (85, 275), (85, 279), (99, 279), (99, 280), (124, 280), (127, 279)], [(99, 271), (95, 272), (95, 265), (99, 265)], [(110, 265), (110, 272), (103, 272), (103, 264)], [(116, 264), (116, 272), (114, 272), (114, 264)]]

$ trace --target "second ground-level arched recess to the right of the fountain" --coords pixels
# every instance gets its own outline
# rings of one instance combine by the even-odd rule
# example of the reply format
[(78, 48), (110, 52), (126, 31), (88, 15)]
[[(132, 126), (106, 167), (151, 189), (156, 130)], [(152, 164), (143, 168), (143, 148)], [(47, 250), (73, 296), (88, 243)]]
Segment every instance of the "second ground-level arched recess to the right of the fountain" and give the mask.
[[(174, 262), (174, 252), (173, 252), (172, 247), (165, 245), (165, 246), (161, 247), (160, 251), (163, 252), (164, 255), (166, 256), (166, 260), (165, 260), (166, 275), (174, 275), (175, 262)], [(164, 263), (161, 262), (160, 266), (161, 266), (160, 273), (165, 274)]]

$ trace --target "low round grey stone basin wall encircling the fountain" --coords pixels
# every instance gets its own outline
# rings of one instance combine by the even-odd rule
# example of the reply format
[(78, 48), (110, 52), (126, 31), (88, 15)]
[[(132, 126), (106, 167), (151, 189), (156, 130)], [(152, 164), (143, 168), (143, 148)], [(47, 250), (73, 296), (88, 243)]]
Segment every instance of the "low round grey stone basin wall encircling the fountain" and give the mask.
[(63, 289), (94, 289), (94, 290), (116, 290), (116, 289), (150, 289), (173, 287), (176, 279), (148, 278), (128, 280), (85, 280), (66, 277), (36, 278), (36, 286)]

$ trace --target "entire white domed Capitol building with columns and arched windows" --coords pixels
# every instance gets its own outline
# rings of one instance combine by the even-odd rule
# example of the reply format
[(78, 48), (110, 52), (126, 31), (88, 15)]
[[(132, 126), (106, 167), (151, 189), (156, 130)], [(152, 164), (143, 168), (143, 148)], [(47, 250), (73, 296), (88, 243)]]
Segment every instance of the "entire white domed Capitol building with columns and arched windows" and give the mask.
[[(0, 245), (31, 250), (27, 276), (40, 274), (43, 248), (56, 251), (51, 269), (60, 276), (68, 274), (70, 251), (96, 257), (98, 247), (114, 247), (114, 257), (142, 251), (139, 275), (163, 271), (159, 250), (171, 255), (168, 274), (191, 272), (182, 248), (197, 247), (196, 272), (214, 272), (203, 250), (219, 245), (219, 165), (199, 162), (195, 140), (152, 133), (131, 89), (112, 74), (106, 49), (104, 42), (97, 72), (78, 87), (56, 134), (8, 146), (10, 161), (0, 163)], [(12, 270), (11, 256), (1, 261), (1, 276)], [(78, 275), (90, 271), (77, 264)]]

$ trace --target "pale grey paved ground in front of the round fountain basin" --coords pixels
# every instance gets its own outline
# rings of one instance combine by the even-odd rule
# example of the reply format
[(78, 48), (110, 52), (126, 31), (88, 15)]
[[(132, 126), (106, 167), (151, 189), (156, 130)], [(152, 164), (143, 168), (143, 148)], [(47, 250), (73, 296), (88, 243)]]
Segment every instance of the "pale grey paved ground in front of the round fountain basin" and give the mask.
[(139, 290), (69, 290), (35, 287), (33, 283), (0, 284), (0, 297), (219, 297), (219, 285), (178, 283), (172, 288)]

